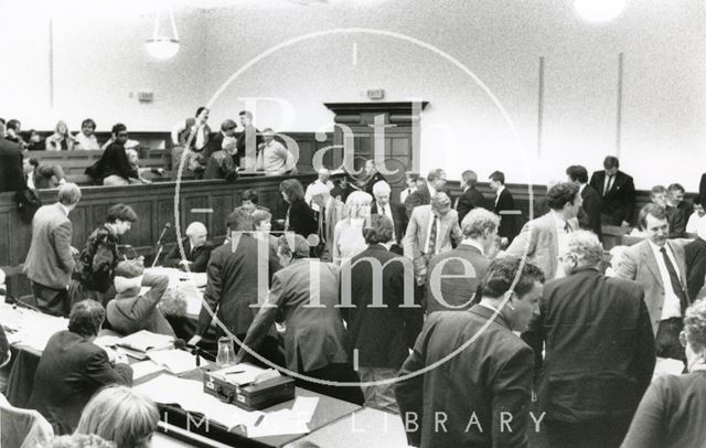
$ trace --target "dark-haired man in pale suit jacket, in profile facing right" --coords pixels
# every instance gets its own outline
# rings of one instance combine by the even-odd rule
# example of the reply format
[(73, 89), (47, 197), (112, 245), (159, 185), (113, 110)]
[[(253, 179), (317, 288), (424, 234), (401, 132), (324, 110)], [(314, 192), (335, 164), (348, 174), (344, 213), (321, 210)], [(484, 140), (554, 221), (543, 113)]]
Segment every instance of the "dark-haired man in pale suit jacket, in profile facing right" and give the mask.
[(564, 277), (558, 269), (557, 257), (566, 252), (571, 232), (578, 231), (578, 211), (581, 207), (578, 185), (571, 182), (557, 183), (547, 192), (549, 213), (530, 221), (507, 247), (507, 255), (527, 256), (527, 260), (539, 266), (547, 279)]

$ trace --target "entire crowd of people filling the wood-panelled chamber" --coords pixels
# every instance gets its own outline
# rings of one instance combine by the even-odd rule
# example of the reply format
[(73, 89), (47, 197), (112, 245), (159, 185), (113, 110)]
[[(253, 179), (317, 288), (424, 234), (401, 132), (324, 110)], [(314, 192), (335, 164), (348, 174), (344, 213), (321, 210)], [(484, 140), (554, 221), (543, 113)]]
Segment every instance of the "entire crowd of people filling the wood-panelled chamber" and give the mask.
[[(271, 173), (287, 172), (290, 154), (252, 118), (240, 114), (243, 138), (233, 120), (214, 135), (199, 109), (174, 138), (204, 177), (237, 179), (257, 163), (248, 145), (263, 148)], [(69, 149), (65, 125), (56, 135), (51, 145)], [(127, 130), (116, 125), (114, 135), (105, 184), (135, 174), (105, 169), (124, 162)], [(546, 213), (521, 226), (500, 171), (489, 175), (490, 199), (471, 170), (456, 196), (445, 170), (408, 172), (399, 201), (374, 161), (363, 172), (322, 168), (306, 186), (285, 179), (287, 212), (275, 222), (257, 191), (243, 191), (225, 242), (190, 223), (181, 248), (158, 260), (206, 273), (189, 344), (204, 343), (215, 317), (216, 335), (238, 343), (237, 361), (277, 364), (300, 386), (399, 414), (414, 446), (522, 447), (539, 425), (552, 447), (700, 446), (704, 194), (688, 201), (678, 183), (654, 186), (635, 218), (632, 177), (607, 157), (590, 178), (568, 167), (543, 198)], [(30, 403), (56, 434), (140, 446), (154, 405), (129, 388), (126, 360), (93, 340), (101, 328), (174, 335), (160, 306), (168, 279), (119, 255), (118, 238), (138, 220), (129, 205), (109, 207), (72, 247), (79, 201), (81, 189), (62, 182), (32, 223), (24, 271), (36, 305), (69, 324), (44, 350)], [(603, 228), (628, 234), (635, 220), (635, 244), (607, 257)], [(653, 380), (657, 360), (684, 374)]]

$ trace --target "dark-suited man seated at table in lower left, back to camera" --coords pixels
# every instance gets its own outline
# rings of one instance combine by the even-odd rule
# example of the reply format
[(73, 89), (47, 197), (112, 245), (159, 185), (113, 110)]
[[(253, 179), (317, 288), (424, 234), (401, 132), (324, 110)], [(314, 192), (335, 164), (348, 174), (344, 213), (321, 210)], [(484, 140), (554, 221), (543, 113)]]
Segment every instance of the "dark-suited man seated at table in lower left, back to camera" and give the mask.
[(39, 410), (55, 434), (72, 434), (86, 403), (101, 387), (131, 385), (132, 369), (125, 355), (115, 362), (93, 343), (106, 311), (94, 300), (74, 305), (68, 330), (52, 335), (34, 374), (29, 407)]

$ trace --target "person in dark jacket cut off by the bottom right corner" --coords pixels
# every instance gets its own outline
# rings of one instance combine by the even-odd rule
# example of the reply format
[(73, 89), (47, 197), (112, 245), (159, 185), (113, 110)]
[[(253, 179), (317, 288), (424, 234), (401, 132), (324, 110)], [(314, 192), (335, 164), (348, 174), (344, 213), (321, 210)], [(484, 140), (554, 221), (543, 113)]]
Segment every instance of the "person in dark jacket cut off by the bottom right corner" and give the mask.
[(706, 440), (706, 300), (686, 310), (684, 331), (688, 373), (652, 382), (621, 448), (702, 448)]

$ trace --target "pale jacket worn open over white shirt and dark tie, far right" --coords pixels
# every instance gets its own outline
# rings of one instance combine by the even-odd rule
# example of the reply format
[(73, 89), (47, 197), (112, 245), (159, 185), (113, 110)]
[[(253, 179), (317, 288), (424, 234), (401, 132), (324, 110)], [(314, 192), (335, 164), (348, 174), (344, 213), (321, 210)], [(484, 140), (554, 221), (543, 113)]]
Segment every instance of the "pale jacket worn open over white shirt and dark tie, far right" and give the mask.
[[(686, 287), (686, 263), (684, 258), (684, 246), (676, 241), (667, 241), (666, 244), (672, 249), (676, 259), (676, 269), (682, 281), (682, 288), (688, 301), (688, 289)], [(618, 276), (629, 280), (635, 280), (644, 289), (644, 302), (650, 312), (652, 331), (657, 333), (660, 320), (662, 318), (662, 307), (664, 305), (664, 285), (660, 275), (657, 260), (650, 247), (650, 242), (644, 239), (630, 246), (623, 253), (623, 263), (618, 269)], [(682, 316), (689, 303), (682, 303)]]

